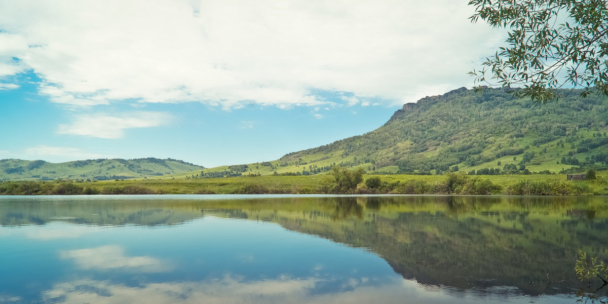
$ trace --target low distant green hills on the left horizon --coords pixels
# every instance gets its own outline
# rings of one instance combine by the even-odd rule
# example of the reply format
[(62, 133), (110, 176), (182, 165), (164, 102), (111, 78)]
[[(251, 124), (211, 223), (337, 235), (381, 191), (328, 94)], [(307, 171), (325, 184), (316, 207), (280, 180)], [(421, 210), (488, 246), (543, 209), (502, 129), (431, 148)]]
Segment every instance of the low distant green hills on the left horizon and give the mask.
[(151, 178), (165, 174), (201, 170), (204, 167), (177, 159), (87, 159), (61, 162), (0, 159), (0, 180), (108, 179)]

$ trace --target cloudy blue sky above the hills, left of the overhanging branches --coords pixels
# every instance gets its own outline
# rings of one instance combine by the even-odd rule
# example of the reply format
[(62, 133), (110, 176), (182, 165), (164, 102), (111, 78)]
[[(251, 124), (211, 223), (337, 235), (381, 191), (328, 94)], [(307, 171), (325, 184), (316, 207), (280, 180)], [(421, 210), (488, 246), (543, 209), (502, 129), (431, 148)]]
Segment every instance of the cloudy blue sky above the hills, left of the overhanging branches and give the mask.
[(272, 161), (474, 85), (468, 1), (0, 0), (0, 159)]

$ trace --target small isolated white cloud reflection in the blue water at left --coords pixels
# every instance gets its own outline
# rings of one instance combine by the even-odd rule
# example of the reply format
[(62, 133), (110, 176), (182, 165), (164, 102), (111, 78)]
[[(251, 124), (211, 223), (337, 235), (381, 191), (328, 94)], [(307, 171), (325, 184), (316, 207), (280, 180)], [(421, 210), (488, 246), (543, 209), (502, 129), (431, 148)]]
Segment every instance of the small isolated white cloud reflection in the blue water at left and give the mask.
[(168, 265), (153, 257), (127, 257), (123, 247), (106, 245), (95, 248), (62, 251), (61, 258), (73, 259), (82, 269), (130, 268), (142, 272), (167, 271)]

